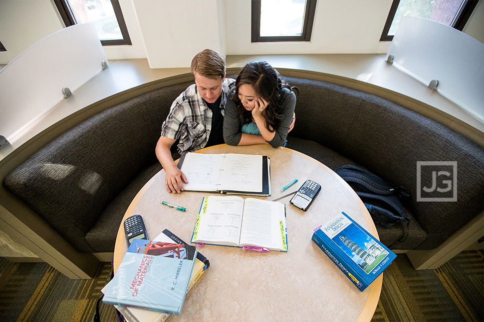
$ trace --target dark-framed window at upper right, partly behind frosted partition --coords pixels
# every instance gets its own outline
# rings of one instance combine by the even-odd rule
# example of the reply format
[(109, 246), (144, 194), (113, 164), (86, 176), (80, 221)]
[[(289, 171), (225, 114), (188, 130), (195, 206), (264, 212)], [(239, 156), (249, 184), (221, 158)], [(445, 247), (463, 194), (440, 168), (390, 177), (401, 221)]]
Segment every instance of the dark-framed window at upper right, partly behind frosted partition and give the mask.
[(426, 18), (464, 29), (478, 0), (393, 0), (380, 41), (391, 41), (403, 16)]

